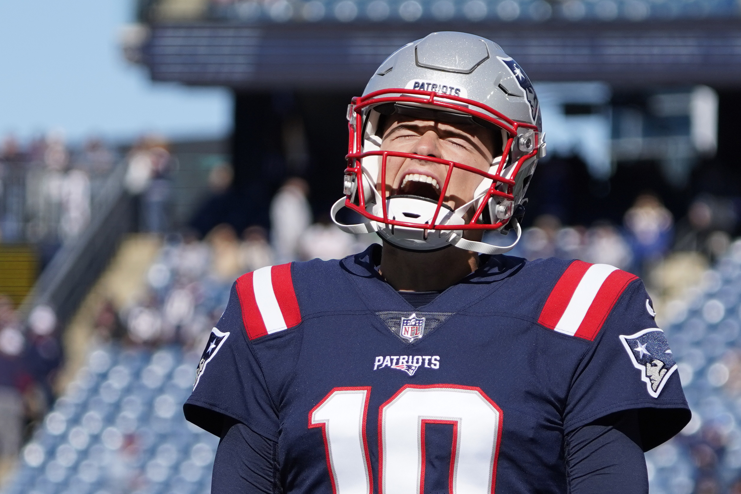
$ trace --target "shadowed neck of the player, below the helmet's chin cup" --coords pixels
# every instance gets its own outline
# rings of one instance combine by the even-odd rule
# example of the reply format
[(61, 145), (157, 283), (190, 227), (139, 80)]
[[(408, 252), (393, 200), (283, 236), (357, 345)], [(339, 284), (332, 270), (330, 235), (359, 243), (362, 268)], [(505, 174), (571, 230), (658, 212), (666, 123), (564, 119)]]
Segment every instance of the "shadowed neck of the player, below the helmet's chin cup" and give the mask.
[(395, 290), (442, 291), (479, 267), (479, 256), (457, 247), (435, 252), (409, 252), (383, 243), (379, 274)]

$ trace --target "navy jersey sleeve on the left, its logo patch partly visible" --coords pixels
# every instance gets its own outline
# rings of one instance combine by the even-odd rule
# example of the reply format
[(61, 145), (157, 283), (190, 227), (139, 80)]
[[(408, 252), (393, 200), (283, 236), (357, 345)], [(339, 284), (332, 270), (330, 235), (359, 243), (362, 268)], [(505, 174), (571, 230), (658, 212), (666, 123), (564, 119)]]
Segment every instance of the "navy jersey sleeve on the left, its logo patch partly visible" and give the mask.
[(188, 421), (214, 435), (222, 433), (227, 416), (277, 441), (278, 413), (247, 338), (236, 283), (224, 314), (211, 330), (183, 411)]

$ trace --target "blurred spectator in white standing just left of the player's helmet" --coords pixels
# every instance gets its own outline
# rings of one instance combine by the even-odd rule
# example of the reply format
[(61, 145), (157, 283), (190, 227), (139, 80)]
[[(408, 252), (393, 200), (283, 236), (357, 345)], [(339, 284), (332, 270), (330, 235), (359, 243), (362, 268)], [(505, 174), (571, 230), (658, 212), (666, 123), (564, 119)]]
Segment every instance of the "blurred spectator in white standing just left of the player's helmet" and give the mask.
[(305, 180), (288, 178), (270, 203), (270, 228), (278, 264), (297, 258), (299, 238), (311, 224), (308, 193)]

